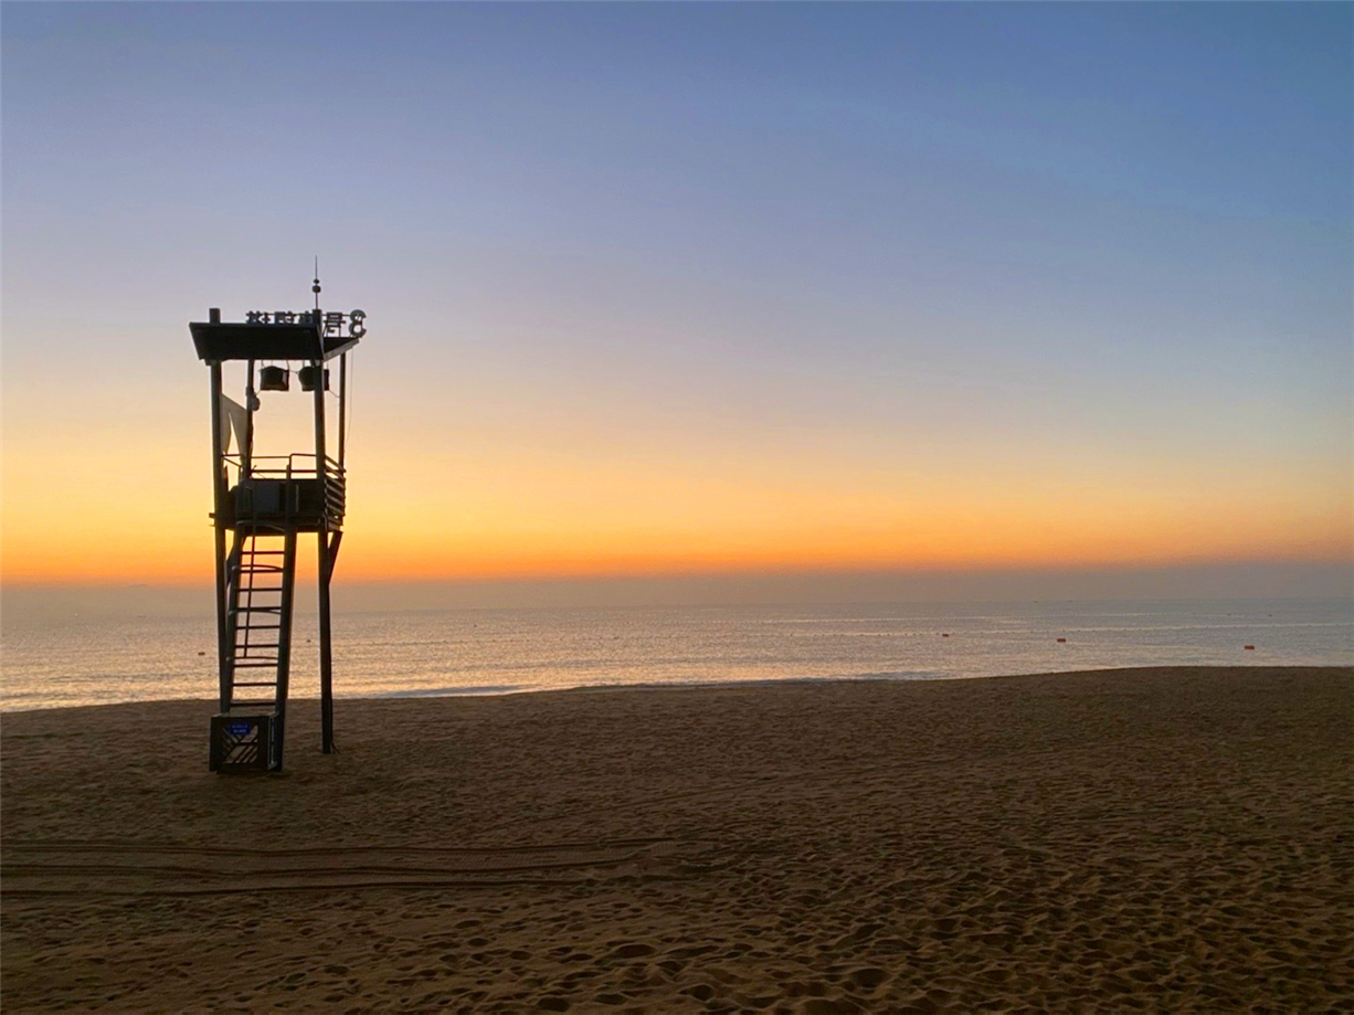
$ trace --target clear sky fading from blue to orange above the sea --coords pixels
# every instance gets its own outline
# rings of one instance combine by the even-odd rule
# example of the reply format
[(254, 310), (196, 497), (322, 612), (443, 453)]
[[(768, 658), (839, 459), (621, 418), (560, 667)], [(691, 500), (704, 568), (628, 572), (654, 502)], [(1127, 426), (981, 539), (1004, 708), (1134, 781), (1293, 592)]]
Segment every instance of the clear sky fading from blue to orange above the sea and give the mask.
[[(1354, 587), (1351, 42), (1347, 4), (7, 1), (0, 582), (210, 590), (187, 323), (307, 307), (318, 256), (368, 315), (340, 585)], [(287, 399), (260, 451), (307, 449)]]

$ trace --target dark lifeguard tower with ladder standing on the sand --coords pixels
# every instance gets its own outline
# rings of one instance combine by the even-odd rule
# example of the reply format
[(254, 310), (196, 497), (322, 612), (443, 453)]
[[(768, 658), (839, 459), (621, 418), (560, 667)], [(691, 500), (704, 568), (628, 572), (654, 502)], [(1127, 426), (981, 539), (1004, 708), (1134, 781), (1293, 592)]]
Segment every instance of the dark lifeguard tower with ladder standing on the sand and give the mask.
[[(317, 537), (322, 750), (334, 750), (329, 583), (343, 541), (347, 494), (348, 353), (367, 333), (367, 315), (362, 310), (322, 311), (318, 277), (313, 292), (313, 310), (253, 310), (244, 322), (223, 322), (221, 311), (213, 309), (206, 322), (188, 325), (198, 357), (211, 372), (211, 518), (221, 685), (219, 712), (211, 719), (213, 771), (282, 767), (297, 540), (302, 533)], [(325, 364), (336, 357), (337, 447), (330, 455), (325, 398), (332, 392)], [(222, 390), (226, 364), (234, 365), (233, 372), (244, 367), (242, 403)], [(301, 392), (313, 399), (314, 449), (256, 456), (260, 394), (297, 398), (301, 392), (291, 392), (292, 374)]]

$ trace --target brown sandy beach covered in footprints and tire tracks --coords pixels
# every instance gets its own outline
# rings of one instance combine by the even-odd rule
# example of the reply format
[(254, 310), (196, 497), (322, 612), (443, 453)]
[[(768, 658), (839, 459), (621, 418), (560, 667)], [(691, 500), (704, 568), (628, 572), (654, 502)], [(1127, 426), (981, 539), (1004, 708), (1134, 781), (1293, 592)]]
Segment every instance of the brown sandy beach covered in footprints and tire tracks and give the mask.
[(7, 713), (5, 1012), (1354, 1010), (1354, 671)]

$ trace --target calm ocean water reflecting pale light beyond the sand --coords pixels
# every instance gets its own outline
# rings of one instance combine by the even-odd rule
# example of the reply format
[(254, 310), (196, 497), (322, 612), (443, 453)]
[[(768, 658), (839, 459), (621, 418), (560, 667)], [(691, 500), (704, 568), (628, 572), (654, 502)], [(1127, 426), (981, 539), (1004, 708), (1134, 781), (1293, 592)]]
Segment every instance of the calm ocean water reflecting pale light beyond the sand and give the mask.
[[(292, 693), (318, 694), (297, 618)], [(948, 635), (948, 637), (946, 637)], [(1059, 643), (1057, 639), (1067, 639)], [(1255, 646), (1247, 651), (1244, 646)], [(210, 617), (5, 620), (0, 709), (215, 696)], [(338, 613), (338, 696), (776, 679), (944, 679), (1152, 664), (1351, 664), (1347, 600)]]

